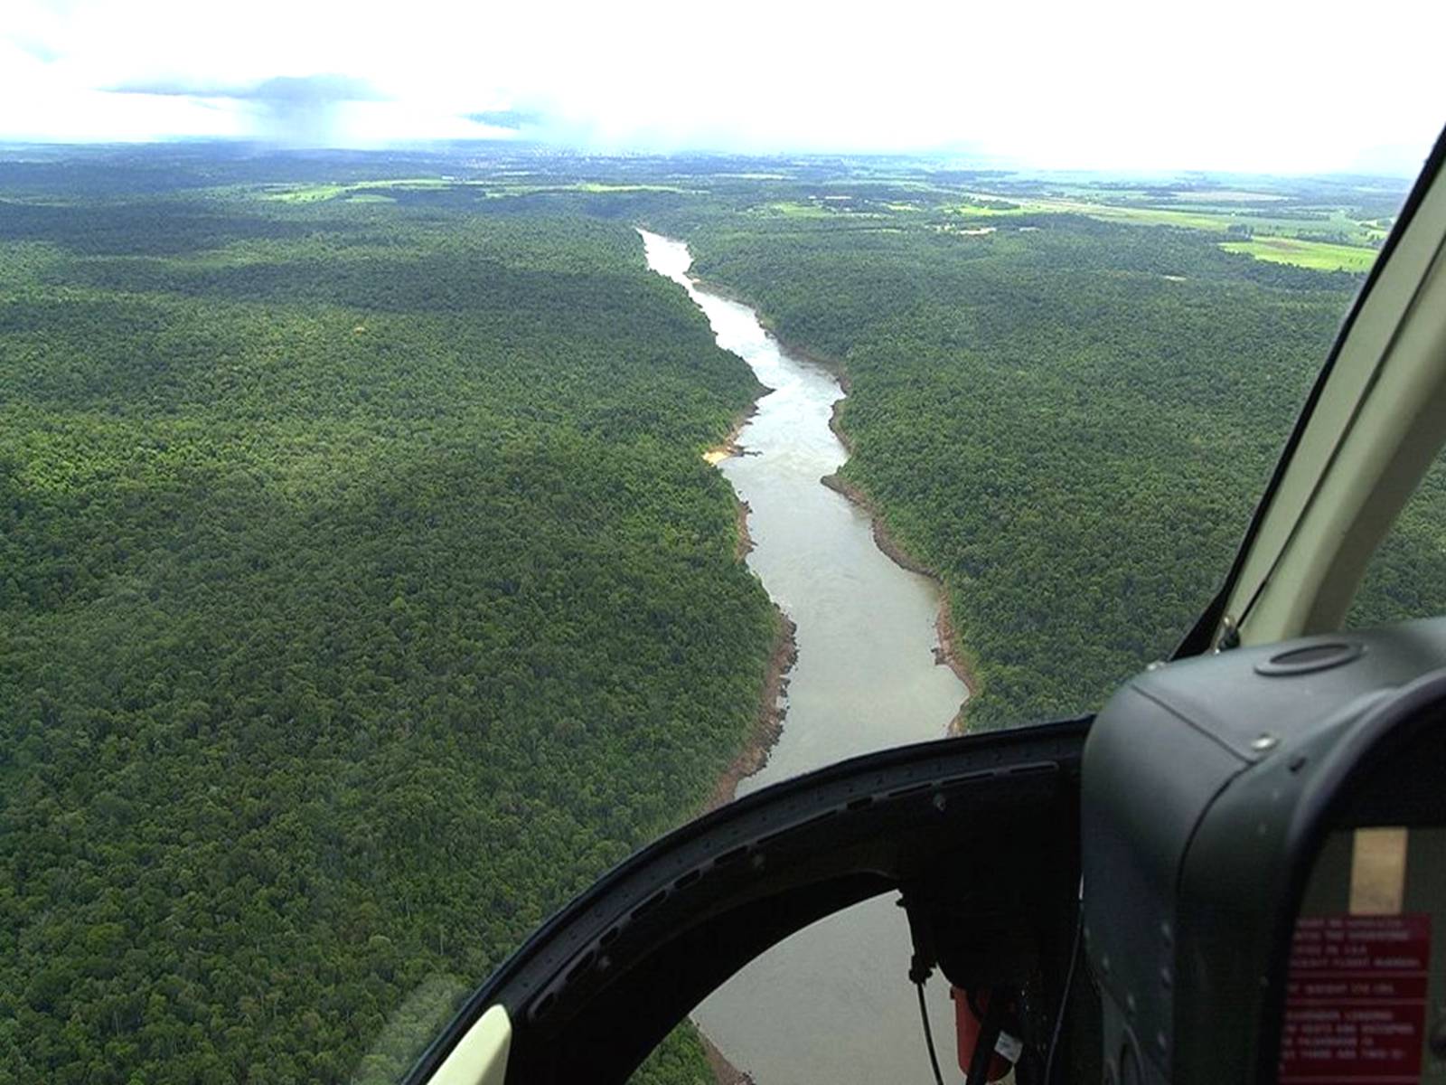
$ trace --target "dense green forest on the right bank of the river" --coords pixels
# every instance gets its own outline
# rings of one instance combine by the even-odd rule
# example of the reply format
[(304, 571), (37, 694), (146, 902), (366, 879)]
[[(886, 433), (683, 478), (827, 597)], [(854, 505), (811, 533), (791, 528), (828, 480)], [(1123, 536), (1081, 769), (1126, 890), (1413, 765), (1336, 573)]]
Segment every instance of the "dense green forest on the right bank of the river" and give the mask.
[[(1095, 707), (1213, 595), (1364, 276), (1168, 223), (1037, 213), (960, 233), (937, 208), (879, 213), (907, 191), (873, 195), (863, 214), (652, 220), (846, 375), (843, 477), (941, 574), (970, 726)], [(1443, 527), (1437, 472), (1353, 622), (1446, 610)]]

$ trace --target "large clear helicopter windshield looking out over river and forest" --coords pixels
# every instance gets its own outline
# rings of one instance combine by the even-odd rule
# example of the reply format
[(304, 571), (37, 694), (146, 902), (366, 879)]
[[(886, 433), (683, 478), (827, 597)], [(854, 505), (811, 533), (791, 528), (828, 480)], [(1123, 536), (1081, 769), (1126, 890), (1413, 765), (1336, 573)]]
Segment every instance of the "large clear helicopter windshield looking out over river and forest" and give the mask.
[[(1167, 654), (1443, 119), (1439, 12), (1226, 14), (7, 4), (0, 1078), (393, 1081), (658, 833)], [(881, 1079), (831, 930), (641, 1079)]]

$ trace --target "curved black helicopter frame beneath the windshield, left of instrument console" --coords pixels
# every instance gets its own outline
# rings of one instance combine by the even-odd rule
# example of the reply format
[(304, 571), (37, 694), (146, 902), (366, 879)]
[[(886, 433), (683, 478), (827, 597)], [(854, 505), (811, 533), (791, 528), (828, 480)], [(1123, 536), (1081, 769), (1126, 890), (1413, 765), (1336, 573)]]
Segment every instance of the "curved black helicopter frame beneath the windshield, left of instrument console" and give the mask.
[[(1058, 985), (1073, 956), (1089, 723), (886, 749), (675, 829), (528, 939), (405, 1081), (625, 1082), (707, 994), (771, 946), (940, 872), (993, 887), (977, 901), (989, 914), (1008, 887), (1015, 920), (1040, 933), (1045, 981)], [(967, 909), (953, 917), (966, 929)]]

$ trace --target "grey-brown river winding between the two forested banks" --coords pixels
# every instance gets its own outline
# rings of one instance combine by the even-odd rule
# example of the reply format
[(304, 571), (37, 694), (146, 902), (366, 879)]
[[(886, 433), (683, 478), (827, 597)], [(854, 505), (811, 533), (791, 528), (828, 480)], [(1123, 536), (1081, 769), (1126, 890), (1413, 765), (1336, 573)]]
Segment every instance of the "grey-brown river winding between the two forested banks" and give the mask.
[[(829, 428), (843, 398), (824, 369), (794, 357), (758, 314), (688, 278), (684, 242), (641, 230), (648, 266), (688, 291), (719, 346), (769, 389), (719, 463), (752, 509), (749, 567), (798, 625), (784, 732), (746, 793), (830, 761), (938, 738), (967, 689), (934, 663), (938, 587), (875, 545), (868, 515), (818, 480), (847, 459)], [(758, 1085), (933, 1082), (907, 972), (908, 927), (895, 894), (798, 933), (753, 961), (693, 1014)], [(953, 1065), (947, 988), (928, 987), (946, 1079)]]

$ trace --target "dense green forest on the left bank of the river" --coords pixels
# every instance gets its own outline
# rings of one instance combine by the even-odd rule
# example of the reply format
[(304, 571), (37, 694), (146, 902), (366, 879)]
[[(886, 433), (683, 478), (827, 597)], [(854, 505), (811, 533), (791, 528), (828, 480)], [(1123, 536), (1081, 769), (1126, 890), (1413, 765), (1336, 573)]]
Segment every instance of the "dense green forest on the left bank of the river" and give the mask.
[(742, 744), (758, 388), (620, 223), (64, 176), (0, 205), (0, 1078), (393, 1079)]

